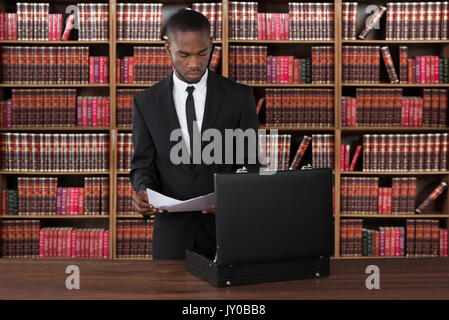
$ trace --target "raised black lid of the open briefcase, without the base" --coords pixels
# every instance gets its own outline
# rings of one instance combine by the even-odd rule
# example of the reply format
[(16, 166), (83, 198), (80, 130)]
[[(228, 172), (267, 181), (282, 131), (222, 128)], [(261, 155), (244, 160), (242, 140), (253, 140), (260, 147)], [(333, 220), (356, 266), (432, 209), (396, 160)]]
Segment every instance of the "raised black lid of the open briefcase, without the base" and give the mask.
[(218, 266), (331, 255), (331, 169), (214, 178)]

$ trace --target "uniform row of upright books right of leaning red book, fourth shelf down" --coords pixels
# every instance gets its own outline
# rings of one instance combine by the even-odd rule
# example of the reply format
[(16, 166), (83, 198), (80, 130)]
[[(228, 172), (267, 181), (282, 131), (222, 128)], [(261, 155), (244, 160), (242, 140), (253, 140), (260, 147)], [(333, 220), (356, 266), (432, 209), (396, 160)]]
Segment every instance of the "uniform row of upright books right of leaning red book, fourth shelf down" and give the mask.
[(363, 171), (448, 170), (449, 134), (364, 134)]

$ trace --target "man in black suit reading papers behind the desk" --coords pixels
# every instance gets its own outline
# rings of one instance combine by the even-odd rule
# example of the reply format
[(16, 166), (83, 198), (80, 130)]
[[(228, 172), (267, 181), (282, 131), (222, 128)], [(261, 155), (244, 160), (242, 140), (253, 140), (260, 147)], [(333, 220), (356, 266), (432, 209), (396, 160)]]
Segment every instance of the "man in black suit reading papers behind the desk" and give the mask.
[[(176, 164), (171, 150), (179, 141), (172, 141), (172, 132), (182, 132), (181, 143), (189, 152), (188, 160), (193, 160), (194, 132), (202, 134), (214, 128), (224, 140), (225, 129), (257, 133), (259, 123), (252, 88), (208, 70), (212, 38), (206, 17), (193, 10), (176, 13), (167, 23), (167, 37), (165, 49), (174, 72), (133, 99), (130, 180), (136, 191), (134, 209), (144, 218), (155, 215), (153, 258), (185, 259), (186, 248), (215, 248), (214, 208), (168, 213), (152, 206), (146, 188), (186, 200), (214, 192), (214, 173), (235, 172), (242, 164), (236, 163), (235, 152), (233, 163), (224, 164), (224, 145), (221, 163), (207, 164), (200, 159), (201, 163)], [(205, 143), (200, 144), (203, 150)], [(258, 165), (248, 162), (248, 155), (245, 153), (243, 165), (255, 171)]]

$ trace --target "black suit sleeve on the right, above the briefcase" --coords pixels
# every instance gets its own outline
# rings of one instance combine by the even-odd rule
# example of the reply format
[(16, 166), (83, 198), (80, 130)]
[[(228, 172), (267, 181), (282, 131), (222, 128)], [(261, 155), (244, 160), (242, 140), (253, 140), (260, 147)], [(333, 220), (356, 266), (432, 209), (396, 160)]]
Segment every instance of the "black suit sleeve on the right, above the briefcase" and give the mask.
[[(256, 134), (255, 145), (254, 143), (248, 144), (245, 148), (244, 153), (244, 166), (248, 169), (249, 172), (256, 172), (259, 168), (258, 161), (258, 130), (259, 130), (259, 117), (257, 116), (256, 111), (256, 101), (254, 99), (253, 88), (248, 87), (246, 96), (243, 99), (244, 104), (242, 106), (242, 113), (240, 116), (239, 128), (243, 131), (247, 129), (254, 130)], [(253, 161), (255, 159), (255, 162)], [(237, 164), (236, 168), (240, 168), (242, 165)]]

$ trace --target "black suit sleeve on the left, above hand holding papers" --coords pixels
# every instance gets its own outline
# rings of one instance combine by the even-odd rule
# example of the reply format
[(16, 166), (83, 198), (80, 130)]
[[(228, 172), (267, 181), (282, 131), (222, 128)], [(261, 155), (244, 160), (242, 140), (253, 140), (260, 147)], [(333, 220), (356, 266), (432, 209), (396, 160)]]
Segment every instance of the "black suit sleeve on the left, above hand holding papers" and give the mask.
[(159, 171), (155, 163), (156, 149), (135, 96), (133, 98), (132, 122), (134, 145), (130, 172), (132, 187), (136, 192), (146, 188), (159, 190)]

